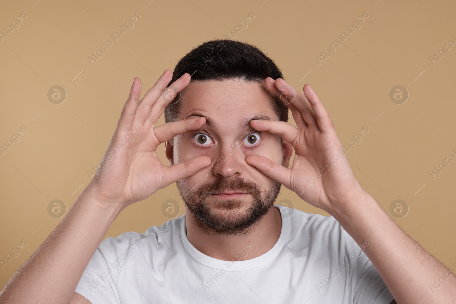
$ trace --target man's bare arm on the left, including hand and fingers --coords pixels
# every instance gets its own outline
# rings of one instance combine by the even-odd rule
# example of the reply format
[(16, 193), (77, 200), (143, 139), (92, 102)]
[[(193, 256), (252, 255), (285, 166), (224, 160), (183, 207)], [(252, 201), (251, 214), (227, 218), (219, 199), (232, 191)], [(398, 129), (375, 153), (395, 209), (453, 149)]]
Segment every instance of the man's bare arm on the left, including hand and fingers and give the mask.
[[(82, 297), (75, 293), (79, 279), (120, 211), (211, 163), (209, 157), (197, 156), (167, 167), (156, 154), (159, 144), (205, 123), (204, 118), (187, 119), (154, 128), (178, 93), (163, 94), (171, 77), (171, 70), (166, 69), (141, 102), (141, 81), (134, 79), (97, 174), (62, 222), (6, 284), (0, 303), (77, 303)], [(189, 82), (190, 75), (185, 73), (172, 85), (181, 91)]]

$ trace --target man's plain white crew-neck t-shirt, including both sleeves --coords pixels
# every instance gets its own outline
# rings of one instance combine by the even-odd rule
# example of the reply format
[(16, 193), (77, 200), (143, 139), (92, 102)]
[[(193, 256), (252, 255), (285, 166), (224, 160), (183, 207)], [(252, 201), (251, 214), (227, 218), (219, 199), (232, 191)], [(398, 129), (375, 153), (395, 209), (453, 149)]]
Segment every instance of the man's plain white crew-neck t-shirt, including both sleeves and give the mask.
[(389, 304), (392, 294), (360, 246), (332, 216), (280, 208), (280, 237), (268, 252), (211, 258), (187, 239), (185, 214), (145, 233), (108, 237), (76, 292), (92, 304)]

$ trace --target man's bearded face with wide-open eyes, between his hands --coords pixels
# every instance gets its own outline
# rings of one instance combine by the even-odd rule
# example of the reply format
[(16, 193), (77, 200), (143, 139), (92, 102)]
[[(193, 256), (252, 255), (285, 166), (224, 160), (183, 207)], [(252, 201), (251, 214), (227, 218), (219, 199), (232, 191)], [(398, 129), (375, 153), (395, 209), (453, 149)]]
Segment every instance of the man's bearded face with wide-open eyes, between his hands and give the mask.
[(177, 181), (199, 227), (226, 235), (249, 231), (274, 205), (280, 183), (245, 162), (261, 155), (288, 166), (280, 137), (258, 132), (251, 119), (279, 118), (264, 83), (241, 80), (194, 81), (181, 93), (180, 119), (206, 118), (202, 128), (176, 136), (166, 155), (172, 164), (205, 155), (212, 164)]

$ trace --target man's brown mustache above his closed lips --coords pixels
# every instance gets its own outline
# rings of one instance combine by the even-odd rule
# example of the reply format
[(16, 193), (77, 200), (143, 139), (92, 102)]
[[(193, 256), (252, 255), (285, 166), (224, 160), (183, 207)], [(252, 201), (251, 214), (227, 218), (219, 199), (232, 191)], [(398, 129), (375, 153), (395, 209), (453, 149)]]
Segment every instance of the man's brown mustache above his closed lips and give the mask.
[(250, 180), (245, 180), (242, 177), (230, 177), (230, 178), (219, 178), (210, 183), (202, 185), (194, 195), (201, 198), (206, 198), (214, 192), (223, 191), (243, 191), (250, 192), (254, 197), (258, 197), (261, 194), (261, 190), (258, 184)]

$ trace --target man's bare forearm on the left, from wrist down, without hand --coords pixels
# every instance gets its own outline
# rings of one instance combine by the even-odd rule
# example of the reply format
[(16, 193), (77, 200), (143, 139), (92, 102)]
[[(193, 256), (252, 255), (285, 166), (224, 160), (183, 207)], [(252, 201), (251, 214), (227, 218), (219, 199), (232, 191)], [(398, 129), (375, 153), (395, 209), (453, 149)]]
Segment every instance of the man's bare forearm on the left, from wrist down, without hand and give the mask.
[(85, 189), (67, 216), (6, 284), (0, 303), (69, 303), (90, 258), (120, 211), (98, 203)]

